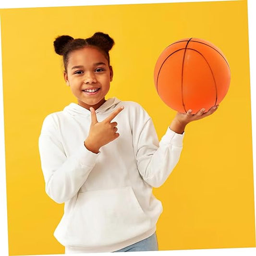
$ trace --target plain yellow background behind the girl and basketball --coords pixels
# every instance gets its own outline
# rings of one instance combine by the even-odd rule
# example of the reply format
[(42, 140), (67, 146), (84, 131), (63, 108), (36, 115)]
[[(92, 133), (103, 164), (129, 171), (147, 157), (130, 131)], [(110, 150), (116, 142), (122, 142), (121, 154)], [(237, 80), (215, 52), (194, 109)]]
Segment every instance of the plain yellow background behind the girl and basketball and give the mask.
[(195, 2), (0, 10), (10, 255), (59, 254), (63, 205), (45, 193), (37, 140), (51, 112), (76, 102), (53, 40), (114, 38), (108, 98), (134, 100), (158, 137), (175, 111), (158, 97), (154, 65), (172, 42), (198, 37), (229, 61), (230, 90), (212, 116), (186, 127), (180, 161), (154, 194), (163, 203), (159, 250), (255, 246), (247, 2)]

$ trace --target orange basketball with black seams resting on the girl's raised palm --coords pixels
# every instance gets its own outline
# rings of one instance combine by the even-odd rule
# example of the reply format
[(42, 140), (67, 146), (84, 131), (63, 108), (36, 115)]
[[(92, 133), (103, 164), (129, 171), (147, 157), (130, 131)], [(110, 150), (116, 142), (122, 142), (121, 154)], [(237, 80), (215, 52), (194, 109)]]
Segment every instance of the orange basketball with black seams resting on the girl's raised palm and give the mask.
[(230, 85), (230, 67), (222, 51), (206, 40), (187, 38), (168, 46), (158, 58), (154, 82), (173, 110), (192, 114), (218, 105)]

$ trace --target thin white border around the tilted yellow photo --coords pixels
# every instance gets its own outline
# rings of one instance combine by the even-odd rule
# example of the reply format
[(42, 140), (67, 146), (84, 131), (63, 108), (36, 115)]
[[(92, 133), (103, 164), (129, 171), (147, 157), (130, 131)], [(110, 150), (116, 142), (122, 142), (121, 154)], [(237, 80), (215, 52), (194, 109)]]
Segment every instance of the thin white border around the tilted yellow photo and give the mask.
[[(218, 0), (211, 0), (218, 1)], [(222, 0), (227, 1), (227, 0)], [(60, 6), (85, 6), (85, 5), (117, 5), (117, 4), (142, 4), (142, 3), (171, 3), (171, 2), (207, 2), (204, 0), (8, 0), (0, 3), (0, 9), (10, 8), (35, 8), (35, 7), (60, 7)], [(254, 24), (256, 24), (256, 0), (247, 0), (248, 4), (248, 29), (249, 29), (249, 50), (250, 50), (250, 85), (251, 85), (251, 108), (252, 108), (252, 128), (253, 128), (253, 147), (256, 146), (256, 32)], [(1, 45), (1, 34), (0, 34)], [(8, 252), (8, 226), (7, 226), (7, 200), (6, 200), (6, 174), (5, 174), (5, 144), (4, 144), (4, 118), (3, 118), (3, 82), (2, 82), (2, 58), (0, 48), (0, 254), (2, 256), (9, 256)], [(253, 152), (253, 159), (256, 159), (256, 151)], [(254, 184), (256, 184), (256, 171), (254, 170)], [(256, 189), (254, 190), (254, 197), (256, 198)], [(255, 207), (256, 219), (256, 207)], [(256, 228), (256, 227), (255, 227)], [(200, 249), (200, 250), (173, 250), (171, 254), (176, 255), (190, 255), (190, 256), (205, 256), (205, 255), (226, 255), (231, 253), (232, 256), (248, 255), (255, 256), (256, 248), (227, 248), (227, 249)], [(97, 254), (99, 256), (110, 255), (111, 253)], [(122, 254), (122, 253), (117, 253)], [(170, 251), (158, 252), (139, 252), (134, 255), (170, 255)], [(84, 256), (96, 254), (79, 254)], [(39, 255), (37, 255), (39, 256)], [(44, 255), (43, 255), (44, 256)], [(52, 255), (52, 256), (61, 256)], [(77, 256), (72, 254), (70, 256)]]

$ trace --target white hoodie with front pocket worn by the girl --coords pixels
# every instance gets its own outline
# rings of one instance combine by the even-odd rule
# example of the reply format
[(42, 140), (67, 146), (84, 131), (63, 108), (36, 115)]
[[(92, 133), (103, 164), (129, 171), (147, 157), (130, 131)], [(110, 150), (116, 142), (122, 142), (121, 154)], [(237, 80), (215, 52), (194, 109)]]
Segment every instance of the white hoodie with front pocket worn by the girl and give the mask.
[(167, 129), (160, 143), (151, 118), (137, 103), (110, 98), (96, 110), (98, 122), (124, 106), (112, 122), (120, 136), (98, 154), (84, 146), (91, 114), (71, 103), (49, 114), (39, 137), (46, 193), (65, 203), (54, 232), (66, 253), (112, 252), (156, 231), (162, 205), (152, 187), (177, 164), (183, 134)]

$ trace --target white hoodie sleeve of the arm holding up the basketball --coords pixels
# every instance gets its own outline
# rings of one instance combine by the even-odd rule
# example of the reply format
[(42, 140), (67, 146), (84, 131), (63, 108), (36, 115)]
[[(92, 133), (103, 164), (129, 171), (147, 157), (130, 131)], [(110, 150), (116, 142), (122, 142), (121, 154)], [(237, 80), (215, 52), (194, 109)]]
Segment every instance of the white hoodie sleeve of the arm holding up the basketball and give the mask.
[[(151, 118), (145, 110), (134, 123), (133, 143), (138, 170), (146, 183), (161, 186), (179, 161), (184, 134), (177, 134), (169, 127), (160, 140)], [(144, 120), (144, 122), (142, 122)]]

